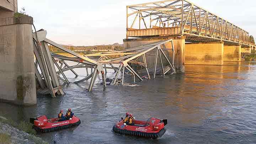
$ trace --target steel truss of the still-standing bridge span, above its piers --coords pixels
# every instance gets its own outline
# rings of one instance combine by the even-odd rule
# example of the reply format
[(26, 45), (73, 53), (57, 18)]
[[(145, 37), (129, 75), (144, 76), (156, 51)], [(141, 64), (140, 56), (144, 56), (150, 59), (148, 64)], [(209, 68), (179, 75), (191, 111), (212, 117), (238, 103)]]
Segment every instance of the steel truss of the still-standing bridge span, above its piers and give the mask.
[(181, 35), (187, 42), (223, 41), (249, 46), (248, 32), (188, 0), (127, 6), (127, 38)]

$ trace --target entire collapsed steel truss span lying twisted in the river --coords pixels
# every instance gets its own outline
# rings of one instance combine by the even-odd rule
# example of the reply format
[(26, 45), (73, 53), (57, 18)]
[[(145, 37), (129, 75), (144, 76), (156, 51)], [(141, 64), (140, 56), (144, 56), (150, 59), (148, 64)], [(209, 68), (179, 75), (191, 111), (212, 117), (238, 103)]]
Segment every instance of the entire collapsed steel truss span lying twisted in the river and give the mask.
[[(65, 75), (65, 71), (72, 71), (77, 77), (78, 74), (74, 71), (77, 68), (83, 68), (86, 77), (74, 83), (78, 84), (86, 80), (90, 80), (88, 91), (92, 91), (98, 74), (101, 73), (101, 80), (103, 87), (106, 87), (106, 73), (107, 69), (113, 69), (116, 74), (111, 82), (111, 85), (117, 85), (118, 76), (121, 75), (121, 85), (124, 85), (124, 71), (128, 70), (133, 76), (133, 82), (135, 82), (135, 77), (142, 81), (143, 78), (140, 76), (136, 70), (130, 66), (130, 64), (142, 65), (145, 68), (146, 74), (149, 79), (150, 73), (148, 70), (147, 56), (148, 53), (154, 53), (154, 71), (153, 77), (156, 78), (157, 64), (161, 64), (162, 75), (165, 76), (169, 71), (170, 74), (176, 73), (174, 67), (174, 45), (172, 39), (163, 40), (158, 42), (153, 42), (150, 44), (145, 44), (143, 46), (138, 46), (134, 48), (129, 48), (121, 51), (112, 51), (96, 54), (80, 55), (73, 52), (63, 46), (49, 40), (46, 38), (46, 31), (38, 31), (33, 34), (33, 48), (34, 55), (36, 57), (34, 62), (36, 80), (40, 85), (38, 90), (39, 94), (50, 94), (53, 97), (55, 95), (63, 95), (62, 86), (59, 81), (63, 81), (65, 84), (70, 83)], [(171, 43), (171, 47), (166, 47), (167, 43)], [(52, 45), (56, 48), (63, 50), (66, 53), (72, 55), (72, 57), (67, 57), (59, 54), (50, 52), (48, 45)], [(172, 60), (166, 55), (164, 51), (172, 50)], [(111, 56), (121, 55), (117, 58), (111, 58)], [(149, 54), (152, 55), (152, 54)], [(98, 60), (93, 60), (90, 57), (100, 57)], [(160, 62), (158, 60), (160, 59)], [(68, 65), (65, 61), (76, 62), (76, 65)], [(58, 63), (59, 62), (59, 63)], [(119, 65), (115, 67), (114, 65)], [(90, 69), (90, 70), (89, 70)], [(105, 70), (104, 70), (105, 69)], [(90, 71), (90, 73), (89, 73)], [(41, 72), (41, 73), (40, 73)], [(60, 76), (63, 76), (61, 78)]]

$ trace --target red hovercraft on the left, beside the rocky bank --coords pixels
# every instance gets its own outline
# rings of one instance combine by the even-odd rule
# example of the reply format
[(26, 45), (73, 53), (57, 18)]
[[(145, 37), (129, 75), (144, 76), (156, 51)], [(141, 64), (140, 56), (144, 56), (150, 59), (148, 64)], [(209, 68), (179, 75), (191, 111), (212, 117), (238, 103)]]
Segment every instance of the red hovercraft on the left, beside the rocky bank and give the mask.
[(30, 118), (30, 123), (34, 124), (34, 129), (43, 133), (47, 133), (60, 129), (70, 128), (72, 126), (78, 126), (81, 121), (76, 116), (61, 122), (58, 121), (58, 118), (47, 119), (46, 116), (40, 116), (38, 118)]

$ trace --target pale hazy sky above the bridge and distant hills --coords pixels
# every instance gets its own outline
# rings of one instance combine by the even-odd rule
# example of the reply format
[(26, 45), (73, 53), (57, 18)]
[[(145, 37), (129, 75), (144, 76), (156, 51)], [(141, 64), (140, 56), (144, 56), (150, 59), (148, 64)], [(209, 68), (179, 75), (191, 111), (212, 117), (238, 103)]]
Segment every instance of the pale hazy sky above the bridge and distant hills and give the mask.
[[(123, 43), (126, 6), (159, 0), (18, 0), (37, 30), (60, 44), (89, 46)], [(191, 0), (256, 37), (255, 0)]]

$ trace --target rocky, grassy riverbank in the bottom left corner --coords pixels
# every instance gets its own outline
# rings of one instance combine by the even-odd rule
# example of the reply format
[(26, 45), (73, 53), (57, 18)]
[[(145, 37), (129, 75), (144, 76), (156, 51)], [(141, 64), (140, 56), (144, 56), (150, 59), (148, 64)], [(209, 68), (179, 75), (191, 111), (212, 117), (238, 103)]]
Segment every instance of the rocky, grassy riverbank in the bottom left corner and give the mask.
[(0, 144), (48, 144), (36, 137), (35, 133), (29, 123), (17, 124), (0, 116)]

